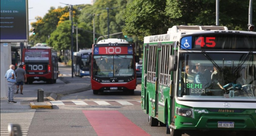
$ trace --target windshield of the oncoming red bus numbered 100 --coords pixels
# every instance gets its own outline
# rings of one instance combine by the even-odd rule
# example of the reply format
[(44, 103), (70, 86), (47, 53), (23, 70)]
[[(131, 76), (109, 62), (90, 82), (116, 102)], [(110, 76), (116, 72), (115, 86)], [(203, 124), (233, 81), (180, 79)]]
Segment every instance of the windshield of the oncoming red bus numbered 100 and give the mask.
[(93, 59), (93, 75), (96, 77), (135, 75), (132, 55), (95, 55)]

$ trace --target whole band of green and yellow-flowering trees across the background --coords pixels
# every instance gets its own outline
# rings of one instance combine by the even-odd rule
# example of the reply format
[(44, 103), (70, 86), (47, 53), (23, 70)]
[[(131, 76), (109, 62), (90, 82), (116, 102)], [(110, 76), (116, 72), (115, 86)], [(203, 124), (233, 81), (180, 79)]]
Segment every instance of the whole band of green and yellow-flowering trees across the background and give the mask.
[[(252, 7), (256, 7), (256, 2)], [(219, 25), (227, 26), (230, 30), (246, 31), (248, 8), (249, 1), (221, 0)], [(74, 51), (77, 47), (76, 36), (78, 36), (78, 47), (82, 49), (91, 48), (93, 40), (107, 35), (108, 17), (109, 33), (123, 32), (120, 35), (110, 35), (110, 38), (129, 38), (128, 41), (136, 43), (139, 48), (145, 36), (165, 34), (173, 25), (215, 25), (216, 0), (97, 0), (93, 5), (73, 6), (72, 13), (74, 26), (79, 28), (78, 35), (76, 35), (76, 29), (73, 33)], [(254, 8), (252, 14), (255, 15), (255, 13)], [(93, 39), (93, 17), (95, 39)], [(68, 6), (57, 9), (51, 7), (43, 18), (35, 19), (36, 22), (31, 25), (35, 28), (36, 34), (29, 37), (31, 45), (48, 43), (57, 51), (71, 48), (71, 21)]]

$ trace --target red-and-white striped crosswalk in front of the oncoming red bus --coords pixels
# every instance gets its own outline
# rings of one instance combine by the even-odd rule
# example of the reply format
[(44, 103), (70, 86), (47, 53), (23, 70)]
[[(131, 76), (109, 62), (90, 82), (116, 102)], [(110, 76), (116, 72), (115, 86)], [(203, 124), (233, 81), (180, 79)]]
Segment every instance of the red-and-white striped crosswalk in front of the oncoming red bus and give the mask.
[(52, 105), (141, 105), (141, 101), (50, 101)]

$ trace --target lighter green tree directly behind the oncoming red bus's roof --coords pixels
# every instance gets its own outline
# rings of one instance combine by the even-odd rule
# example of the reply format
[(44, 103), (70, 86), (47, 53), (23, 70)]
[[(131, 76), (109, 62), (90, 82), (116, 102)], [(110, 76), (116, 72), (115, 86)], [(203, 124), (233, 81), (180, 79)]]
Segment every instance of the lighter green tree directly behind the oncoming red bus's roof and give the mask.
[[(109, 33), (121, 32), (125, 23), (123, 21), (123, 12), (126, 8), (127, 0), (97, 0), (95, 4), (87, 5), (81, 11), (79, 22), (85, 22), (87, 26), (93, 28), (93, 14), (95, 14), (96, 38), (107, 35), (107, 9), (109, 9)], [(100, 14), (97, 16), (97, 14)], [(93, 29), (92, 29), (93, 30)], [(117, 38), (118, 35), (110, 36)]]

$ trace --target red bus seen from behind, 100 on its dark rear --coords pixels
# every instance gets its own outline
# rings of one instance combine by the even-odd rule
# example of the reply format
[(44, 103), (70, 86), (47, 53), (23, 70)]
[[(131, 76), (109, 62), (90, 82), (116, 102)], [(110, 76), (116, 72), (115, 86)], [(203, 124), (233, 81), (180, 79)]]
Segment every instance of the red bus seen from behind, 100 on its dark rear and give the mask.
[(34, 46), (23, 49), (21, 64), (26, 71), (27, 82), (45, 81), (46, 83), (56, 83), (58, 78), (58, 58), (57, 52), (48, 46)]

